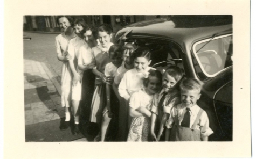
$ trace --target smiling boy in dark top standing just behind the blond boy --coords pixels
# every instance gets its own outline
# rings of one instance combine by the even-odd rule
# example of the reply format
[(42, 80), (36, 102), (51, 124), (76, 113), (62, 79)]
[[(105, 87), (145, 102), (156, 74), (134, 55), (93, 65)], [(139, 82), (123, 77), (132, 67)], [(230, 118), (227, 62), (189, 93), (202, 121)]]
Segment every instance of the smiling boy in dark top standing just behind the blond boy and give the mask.
[[(172, 107), (181, 103), (179, 91), (176, 88), (182, 77), (182, 70), (178, 67), (169, 67), (164, 71), (162, 90), (154, 96), (152, 107), (150, 132), (156, 141), (164, 141), (165, 122), (169, 118)], [(158, 115), (158, 119), (156, 119), (156, 115)], [(157, 136), (155, 135), (155, 125), (157, 125)]]

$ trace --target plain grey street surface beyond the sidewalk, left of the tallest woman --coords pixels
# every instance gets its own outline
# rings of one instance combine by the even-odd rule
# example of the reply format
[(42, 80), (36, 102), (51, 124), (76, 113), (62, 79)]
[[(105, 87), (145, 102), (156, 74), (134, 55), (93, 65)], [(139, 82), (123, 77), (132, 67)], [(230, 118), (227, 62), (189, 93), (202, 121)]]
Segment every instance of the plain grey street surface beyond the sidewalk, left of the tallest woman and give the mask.
[(23, 40), (24, 59), (44, 62), (60, 83), (62, 62), (58, 61), (55, 48), (55, 37), (58, 34), (24, 32), (24, 35), (32, 38)]

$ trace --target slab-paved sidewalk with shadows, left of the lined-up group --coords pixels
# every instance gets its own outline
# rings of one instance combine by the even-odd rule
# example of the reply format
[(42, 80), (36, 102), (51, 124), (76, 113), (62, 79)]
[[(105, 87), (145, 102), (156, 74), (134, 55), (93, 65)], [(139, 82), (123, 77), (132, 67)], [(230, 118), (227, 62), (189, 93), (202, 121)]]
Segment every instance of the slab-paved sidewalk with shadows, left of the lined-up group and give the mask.
[(72, 129), (60, 131), (65, 120), (61, 86), (45, 63), (24, 59), (25, 139), (29, 141), (86, 141)]

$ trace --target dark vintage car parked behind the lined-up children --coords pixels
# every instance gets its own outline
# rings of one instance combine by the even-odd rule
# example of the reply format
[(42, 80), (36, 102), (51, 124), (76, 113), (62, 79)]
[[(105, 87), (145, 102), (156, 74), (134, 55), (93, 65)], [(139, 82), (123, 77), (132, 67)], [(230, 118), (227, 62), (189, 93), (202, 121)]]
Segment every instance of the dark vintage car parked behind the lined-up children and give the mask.
[(116, 33), (115, 42), (128, 30), (132, 32), (126, 42), (151, 50), (152, 67), (162, 70), (178, 66), (185, 77), (202, 81), (202, 96), (197, 104), (207, 112), (214, 131), (209, 141), (232, 141), (232, 24), (175, 28), (168, 19), (148, 20), (122, 28)]

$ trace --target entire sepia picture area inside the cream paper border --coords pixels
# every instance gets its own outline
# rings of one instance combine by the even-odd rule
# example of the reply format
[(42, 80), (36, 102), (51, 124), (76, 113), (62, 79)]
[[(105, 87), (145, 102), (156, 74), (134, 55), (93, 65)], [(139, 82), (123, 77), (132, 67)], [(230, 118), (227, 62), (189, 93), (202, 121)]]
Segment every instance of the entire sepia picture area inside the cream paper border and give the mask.
[(231, 15), (23, 18), (26, 142), (232, 141)]

